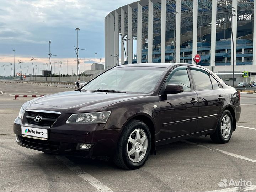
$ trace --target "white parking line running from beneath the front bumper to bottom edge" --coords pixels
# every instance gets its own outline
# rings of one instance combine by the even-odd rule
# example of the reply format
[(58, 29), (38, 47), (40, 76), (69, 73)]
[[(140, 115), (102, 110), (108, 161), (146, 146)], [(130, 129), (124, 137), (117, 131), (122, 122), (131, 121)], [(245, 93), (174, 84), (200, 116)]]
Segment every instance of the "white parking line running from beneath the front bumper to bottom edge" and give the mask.
[(59, 161), (61, 161), (66, 167), (68, 167), (70, 170), (74, 171), (78, 176), (80, 176), (82, 179), (90, 183), (93, 187), (96, 188), (97, 191), (102, 192), (113, 192), (110, 188), (108, 188), (106, 185), (98, 181), (96, 178), (91, 176), (90, 174), (86, 173), (84, 170), (82, 170), (80, 167), (74, 165), (72, 161), (70, 161), (68, 158), (60, 155), (54, 155), (55, 158), (57, 158)]

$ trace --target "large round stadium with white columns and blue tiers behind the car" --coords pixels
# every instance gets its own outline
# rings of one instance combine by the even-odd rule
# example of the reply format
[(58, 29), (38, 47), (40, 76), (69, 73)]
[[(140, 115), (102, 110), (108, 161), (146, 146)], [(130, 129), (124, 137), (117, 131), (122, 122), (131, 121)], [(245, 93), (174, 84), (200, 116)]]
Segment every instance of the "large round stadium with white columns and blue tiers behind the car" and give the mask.
[[(195, 64), (193, 58), (199, 54), (198, 65), (214, 71), (229, 85), (233, 63), (235, 84), (255, 81), (254, 15), (254, 0), (133, 2), (105, 17), (105, 69), (127, 63)], [(244, 71), (249, 71), (248, 78)]]

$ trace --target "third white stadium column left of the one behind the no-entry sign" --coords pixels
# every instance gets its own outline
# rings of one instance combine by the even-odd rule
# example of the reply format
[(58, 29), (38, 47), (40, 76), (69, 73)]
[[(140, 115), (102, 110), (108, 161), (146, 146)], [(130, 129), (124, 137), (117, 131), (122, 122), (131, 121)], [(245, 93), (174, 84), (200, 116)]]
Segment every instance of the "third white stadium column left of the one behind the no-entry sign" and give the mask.
[(153, 55), (153, 2), (148, 5), (148, 63), (152, 63)]

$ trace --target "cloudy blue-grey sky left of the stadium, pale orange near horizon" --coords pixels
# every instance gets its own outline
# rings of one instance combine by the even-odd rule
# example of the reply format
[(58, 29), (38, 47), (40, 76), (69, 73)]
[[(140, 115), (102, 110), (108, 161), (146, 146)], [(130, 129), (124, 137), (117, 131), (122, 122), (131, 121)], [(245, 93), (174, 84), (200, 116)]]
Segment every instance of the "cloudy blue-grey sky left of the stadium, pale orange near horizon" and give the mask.
[[(30, 57), (38, 65), (37, 74), (46, 69), (49, 63), (48, 51), (51, 43), (52, 65), (64, 61), (66, 73), (71, 74), (76, 46), (76, 27), (79, 31), (80, 71), (90, 70), (90, 65), (97, 58), (104, 60), (104, 18), (114, 9), (134, 2), (135, 0), (1, 0), (0, 6), (0, 66), (14, 62), (12, 50), (15, 52), (15, 71), (20, 68), (23, 73), (33, 73)], [(13, 65), (12, 65), (13, 66)], [(75, 63), (74, 63), (75, 66)], [(6, 66), (6, 76), (11, 75), (10, 66)], [(20, 71), (20, 69), (19, 69)], [(61, 69), (62, 71), (62, 69)], [(75, 68), (74, 68), (75, 71)], [(53, 65), (54, 72), (54, 65)], [(16, 72), (15, 72), (16, 73)], [(55, 64), (57, 73), (57, 63)], [(0, 68), (0, 76), (4, 69)]]

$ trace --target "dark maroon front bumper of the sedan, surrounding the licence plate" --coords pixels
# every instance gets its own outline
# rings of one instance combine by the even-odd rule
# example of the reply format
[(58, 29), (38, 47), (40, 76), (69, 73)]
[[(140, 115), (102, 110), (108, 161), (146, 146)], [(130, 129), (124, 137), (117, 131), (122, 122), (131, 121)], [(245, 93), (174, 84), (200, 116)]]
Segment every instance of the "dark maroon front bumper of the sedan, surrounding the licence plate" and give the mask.
[[(23, 125), (20, 118), (16, 118), (13, 125), (20, 146), (43, 151), (72, 156), (113, 156), (120, 129), (103, 129), (105, 124), (65, 124), (57, 120), (52, 127), (38, 127)], [(56, 126), (60, 124), (61, 126)], [(48, 129), (48, 139), (38, 140), (22, 137), (21, 126)], [(90, 149), (79, 149), (79, 143), (94, 144)]]

